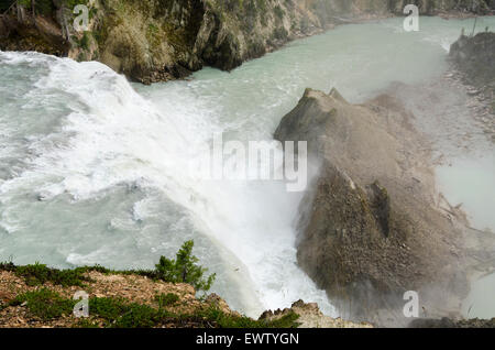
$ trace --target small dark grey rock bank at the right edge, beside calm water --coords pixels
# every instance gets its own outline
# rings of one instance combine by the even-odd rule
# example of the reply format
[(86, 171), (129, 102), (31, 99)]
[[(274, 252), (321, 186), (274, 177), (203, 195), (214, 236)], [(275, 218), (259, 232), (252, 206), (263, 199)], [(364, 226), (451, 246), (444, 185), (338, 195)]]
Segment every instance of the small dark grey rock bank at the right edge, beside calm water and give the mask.
[(472, 85), (472, 95), (482, 95), (495, 114), (495, 33), (461, 35), (450, 47), (450, 58), (462, 73), (464, 83)]

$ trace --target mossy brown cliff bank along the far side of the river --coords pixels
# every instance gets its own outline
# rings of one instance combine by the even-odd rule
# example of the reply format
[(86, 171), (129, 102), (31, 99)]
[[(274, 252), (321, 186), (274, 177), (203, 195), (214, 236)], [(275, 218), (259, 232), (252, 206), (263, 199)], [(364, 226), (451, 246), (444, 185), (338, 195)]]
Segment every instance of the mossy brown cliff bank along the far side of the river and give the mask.
[[(133, 80), (183, 78), (204, 65), (230, 70), (336, 24), (402, 14), (406, 0), (37, 0), (0, 2), (0, 50), (99, 61)], [(424, 14), (486, 13), (483, 0), (415, 1)], [(493, 2), (493, 1), (492, 1)], [(74, 28), (89, 8), (89, 25)]]

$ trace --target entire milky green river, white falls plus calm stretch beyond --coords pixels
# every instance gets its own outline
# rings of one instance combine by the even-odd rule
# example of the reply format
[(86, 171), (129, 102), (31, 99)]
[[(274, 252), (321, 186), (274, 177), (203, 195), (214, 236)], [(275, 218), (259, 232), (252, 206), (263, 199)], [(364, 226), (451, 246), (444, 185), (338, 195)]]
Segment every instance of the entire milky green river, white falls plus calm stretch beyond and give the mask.
[(392, 81), (441, 76), (446, 48), (472, 21), (420, 25), (340, 26), (230, 74), (206, 68), (151, 87), (99, 63), (0, 52), (0, 261), (147, 269), (194, 239), (218, 274), (212, 292), (233, 308), (258, 316), (302, 298), (334, 315), (297, 266), (304, 194), (283, 182), (191, 179), (189, 160), (215, 133), (272, 140), (306, 87), (360, 102)]

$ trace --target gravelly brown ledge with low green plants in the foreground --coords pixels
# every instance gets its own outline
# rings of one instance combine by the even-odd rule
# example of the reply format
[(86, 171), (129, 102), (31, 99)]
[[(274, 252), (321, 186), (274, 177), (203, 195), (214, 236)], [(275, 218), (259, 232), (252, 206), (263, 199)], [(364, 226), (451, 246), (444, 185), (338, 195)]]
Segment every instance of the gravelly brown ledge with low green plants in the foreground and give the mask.
[[(74, 296), (80, 291), (87, 296), (88, 317), (74, 314), (78, 303)], [(231, 310), (216, 294), (198, 298), (193, 285), (164, 282), (145, 271), (110, 271), (100, 266), (61, 271), (40, 264), (0, 264), (0, 328), (4, 327), (355, 328), (371, 325), (326, 317), (318, 306), (300, 300), (290, 309), (266, 311), (255, 320)]]

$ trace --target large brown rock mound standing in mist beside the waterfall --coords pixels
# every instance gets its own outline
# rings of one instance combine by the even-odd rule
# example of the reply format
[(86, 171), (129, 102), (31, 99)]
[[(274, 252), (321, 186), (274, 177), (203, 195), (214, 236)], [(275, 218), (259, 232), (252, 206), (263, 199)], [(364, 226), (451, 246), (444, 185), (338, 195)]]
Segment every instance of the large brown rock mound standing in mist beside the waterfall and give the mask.
[(469, 289), (460, 233), (436, 210), (411, 118), (389, 96), (354, 106), (334, 89), (308, 89), (275, 133), (307, 141), (320, 165), (301, 204), (297, 258), (345, 317), (406, 322), (406, 291), (419, 293), (421, 313), (446, 316)]

